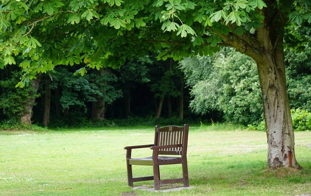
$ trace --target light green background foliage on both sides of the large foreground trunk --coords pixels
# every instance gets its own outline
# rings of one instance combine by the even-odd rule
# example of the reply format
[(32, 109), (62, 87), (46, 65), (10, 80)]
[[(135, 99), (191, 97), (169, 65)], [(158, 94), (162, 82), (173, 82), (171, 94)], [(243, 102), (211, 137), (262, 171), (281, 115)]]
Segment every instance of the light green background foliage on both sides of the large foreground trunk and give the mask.
[[(303, 47), (304, 52), (285, 50), (295, 130), (311, 128), (306, 123), (311, 118), (311, 48)], [(191, 88), (190, 107), (194, 112), (221, 111), (226, 120), (242, 125), (257, 126), (262, 121), (258, 72), (252, 59), (227, 48), (213, 56), (185, 58), (180, 61), (180, 68)]]

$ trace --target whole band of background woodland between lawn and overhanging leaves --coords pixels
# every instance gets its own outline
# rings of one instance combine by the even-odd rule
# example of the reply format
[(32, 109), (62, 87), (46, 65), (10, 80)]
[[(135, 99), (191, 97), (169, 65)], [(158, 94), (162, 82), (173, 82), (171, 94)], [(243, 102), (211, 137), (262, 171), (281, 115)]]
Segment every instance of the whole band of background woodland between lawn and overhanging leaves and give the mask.
[[(295, 130), (311, 129), (310, 58), (310, 44), (286, 51)], [(19, 67), (0, 70), (0, 129), (223, 121), (265, 129), (256, 63), (230, 48), (179, 62), (150, 54), (74, 75), (79, 68), (57, 66), (23, 89)]]

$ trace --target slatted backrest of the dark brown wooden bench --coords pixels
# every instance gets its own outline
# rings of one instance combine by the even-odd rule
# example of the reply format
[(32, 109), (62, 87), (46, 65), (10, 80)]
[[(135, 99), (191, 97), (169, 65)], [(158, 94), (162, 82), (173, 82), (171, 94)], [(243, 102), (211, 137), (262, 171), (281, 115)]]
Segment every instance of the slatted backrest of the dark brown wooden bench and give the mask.
[(187, 155), (189, 125), (184, 126), (155, 126), (155, 145), (181, 144), (180, 147), (164, 148), (159, 155)]

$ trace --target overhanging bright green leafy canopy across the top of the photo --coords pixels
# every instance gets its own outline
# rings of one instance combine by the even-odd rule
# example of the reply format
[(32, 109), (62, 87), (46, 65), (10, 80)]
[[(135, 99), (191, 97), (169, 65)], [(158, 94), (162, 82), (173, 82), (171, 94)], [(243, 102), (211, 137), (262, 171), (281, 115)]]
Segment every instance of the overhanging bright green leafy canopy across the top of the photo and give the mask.
[(162, 59), (207, 55), (228, 45), (222, 35), (256, 34), (266, 7), (276, 7), (290, 27), (311, 22), (310, 6), (310, 0), (1, 0), (0, 68), (20, 66), (23, 87), (56, 65), (80, 65), (83, 75), (86, 67), (117, 68), (149, 50), (162, 50)]

